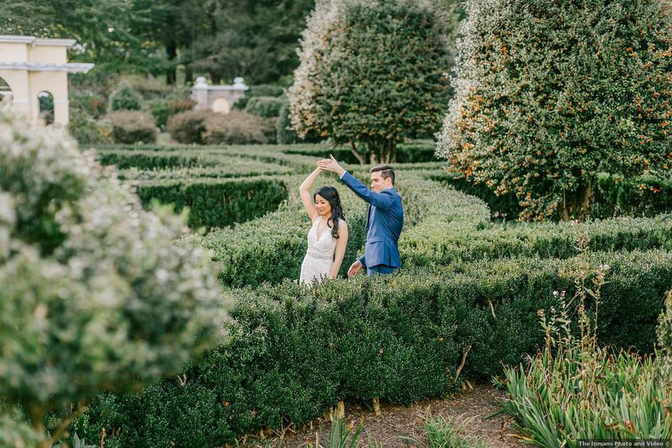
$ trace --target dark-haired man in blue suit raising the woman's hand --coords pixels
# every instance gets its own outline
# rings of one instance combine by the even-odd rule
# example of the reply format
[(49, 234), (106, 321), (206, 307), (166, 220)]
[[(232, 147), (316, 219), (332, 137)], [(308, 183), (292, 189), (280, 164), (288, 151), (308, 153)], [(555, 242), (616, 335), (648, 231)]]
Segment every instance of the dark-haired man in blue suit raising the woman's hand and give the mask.
[(348, 276), (357, 274), (362, 267), (369, 275), (391, 274), (401, 267), (397, 241), (404, 225), (404, 209), (401, 197), (394, 188), (394, 171), (388, 165), (371, 169), (371, 190), (346, 172), (332, 155), (330, 159), (317, 162), (326, 171), (338, 174), (341, 181), (356, 195), (369, 203), (366, 218), (366, 244), (364, 255), (353, 262)]

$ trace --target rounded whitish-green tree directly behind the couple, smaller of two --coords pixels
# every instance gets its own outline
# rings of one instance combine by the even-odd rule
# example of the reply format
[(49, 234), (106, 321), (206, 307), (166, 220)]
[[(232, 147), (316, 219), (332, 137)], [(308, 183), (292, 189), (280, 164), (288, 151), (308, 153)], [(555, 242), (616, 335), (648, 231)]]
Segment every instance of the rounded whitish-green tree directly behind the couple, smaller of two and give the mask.
[(360, 162), (391, 162), (447, 108), (447, 18), (422, 0), (322, 0), (302, 33), (289, 99), (300, 137), (348, 144)]

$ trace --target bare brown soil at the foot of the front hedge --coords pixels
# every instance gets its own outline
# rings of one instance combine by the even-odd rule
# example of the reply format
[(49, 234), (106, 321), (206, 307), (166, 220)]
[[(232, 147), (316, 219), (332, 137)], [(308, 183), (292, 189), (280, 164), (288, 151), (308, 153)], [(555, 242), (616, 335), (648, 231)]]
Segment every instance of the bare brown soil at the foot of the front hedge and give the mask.
[[(524, 446), (515, 435), (512, 419), (499, 415), (484, 420), (484, 416), (498, 409), (495, 397), (503, 397), (505, 393), (498, 391), (489, 384), (474, 384), (467, 389), (444, 400), (425, 400), (410, 407), (389, 405), (381, 402), (381, 414), (376, 415), (372, 409), (362, 405), (345, 405), (345, 422), (357, 426), (364, 424), (363, 437), (360, 445), (369, 447), (369, 441), (375, 440), (384, 448), (402, 448), (414, 445), (403, 437), (422, 438), (423, 416), (444, 415), (455, 419), (470, 419), (465, 426), (465, 435), (476, 436), (488, 448), (518, 448)], [(246, 437), (242, 447), (253, 448), (299, 448), (316, 447), (316, 438), (324, 444), (331, 423), (324, 419), (316, 419), (303, 428), (290, 426), (283, 437), (279, 434), (261, 437)]]

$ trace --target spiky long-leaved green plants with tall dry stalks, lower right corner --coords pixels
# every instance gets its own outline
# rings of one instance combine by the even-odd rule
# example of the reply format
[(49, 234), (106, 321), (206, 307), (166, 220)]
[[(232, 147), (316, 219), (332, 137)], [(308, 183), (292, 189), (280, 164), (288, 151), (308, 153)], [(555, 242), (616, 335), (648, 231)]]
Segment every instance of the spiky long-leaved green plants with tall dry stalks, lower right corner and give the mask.
[[(517, 421), (524, 441), (540, 447), (575, 447), (579, 439), (672, 440), (672, 393), (659, 387), (658, 365), (650, 357), (598, 346), (597, 313), (587, 316), (585, 303), (599, 304), (608, 266), (577, 265), (577, 293), (549, 318), (539, 311), (545, 348), (528, 366), (505, 368), (495, 379), (509, 398), (502, 409)], [(571, 331), (571, 304), (577, 300), (579, 335)], [(496, 415), (500, 412), (496, 412)]]

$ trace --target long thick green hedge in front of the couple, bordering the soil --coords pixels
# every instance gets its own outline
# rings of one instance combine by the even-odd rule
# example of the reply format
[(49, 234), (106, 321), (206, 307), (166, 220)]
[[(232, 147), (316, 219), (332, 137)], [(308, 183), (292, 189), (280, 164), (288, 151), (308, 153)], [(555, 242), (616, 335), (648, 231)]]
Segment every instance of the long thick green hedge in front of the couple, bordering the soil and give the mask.
[[(598, 339), (650, 351), (672, 255), (588, 259), (611, 266)], [(568, 273), (578, 261), (496, 260), (317, 288), (285, 282), (232, 291), (228, 344), (188, 367), (182, 381), (103, 397), (78, 428), (87, 437), (100, 426), (120, 428), (126, 447), (216, 447), (258, 428), (304, 423), (339, 399), (410, 403), (444, 395), (454, 390), (465, 347), (463, 372), (487, 379), (542, 344), (536, 311), (557, 305), (554, 290), (571, 295)]]

